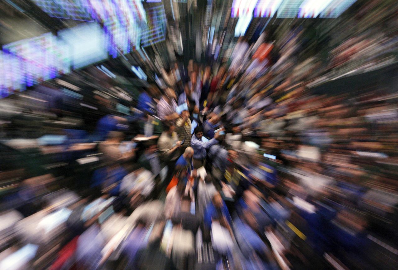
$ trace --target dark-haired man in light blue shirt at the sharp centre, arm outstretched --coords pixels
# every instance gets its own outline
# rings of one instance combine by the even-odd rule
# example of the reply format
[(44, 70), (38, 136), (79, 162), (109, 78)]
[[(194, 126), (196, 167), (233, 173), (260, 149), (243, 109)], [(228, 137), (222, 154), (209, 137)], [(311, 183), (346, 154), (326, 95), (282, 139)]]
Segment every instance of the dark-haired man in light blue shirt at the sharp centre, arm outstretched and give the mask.
[(217, 144), (218, 138), (220, 137), (219, 132), (214, 135), (214, 138), (208, 142), (203, 142), (203, 129), (201, 126), (197, 126), (193, 131), (191, 138), (191, 147), (193, 148), (193, 168), (198, 169), (205, 164), (206, 151), (213, 145)]

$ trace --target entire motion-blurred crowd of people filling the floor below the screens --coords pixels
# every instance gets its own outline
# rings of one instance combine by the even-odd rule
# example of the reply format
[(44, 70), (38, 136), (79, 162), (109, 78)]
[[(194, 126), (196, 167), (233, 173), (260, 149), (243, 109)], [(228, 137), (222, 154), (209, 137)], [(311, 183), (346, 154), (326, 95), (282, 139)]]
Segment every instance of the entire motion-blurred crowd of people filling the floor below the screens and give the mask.
[(396, 268), (396, 38), (344, 23), (0, 102), (0, 269)]

